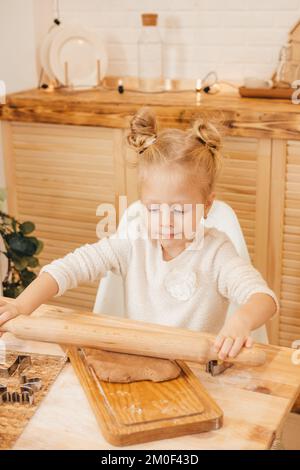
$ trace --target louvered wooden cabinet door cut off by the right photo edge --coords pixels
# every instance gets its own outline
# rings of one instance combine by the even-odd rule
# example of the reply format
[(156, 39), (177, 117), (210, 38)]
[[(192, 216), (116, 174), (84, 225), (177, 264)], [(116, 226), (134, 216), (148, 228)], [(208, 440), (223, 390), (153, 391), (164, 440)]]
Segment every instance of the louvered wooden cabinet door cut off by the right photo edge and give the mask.
[(300, 142), (274, 141), (273, 156), (270, 267), (281, 304), (274, 339), (291, 347), (300, 340)]

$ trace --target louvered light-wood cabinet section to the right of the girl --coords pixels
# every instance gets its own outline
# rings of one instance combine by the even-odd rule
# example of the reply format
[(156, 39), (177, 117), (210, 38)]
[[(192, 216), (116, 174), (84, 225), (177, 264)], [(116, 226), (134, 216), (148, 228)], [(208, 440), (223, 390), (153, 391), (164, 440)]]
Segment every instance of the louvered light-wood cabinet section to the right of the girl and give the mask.
[(235, 210), (253, 265), (276, 292), (272, 343), (300, 339), (300, 141), (225, 140), (218, 198)]

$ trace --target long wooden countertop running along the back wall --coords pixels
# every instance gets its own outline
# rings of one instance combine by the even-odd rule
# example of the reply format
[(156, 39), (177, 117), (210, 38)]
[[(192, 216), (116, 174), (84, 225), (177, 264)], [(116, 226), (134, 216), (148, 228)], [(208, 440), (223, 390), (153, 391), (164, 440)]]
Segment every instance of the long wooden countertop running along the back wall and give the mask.
[(0, 119), (7, 121), (127, 128), (144, 105), (155, 109), (163, 127), (187, 127), (197, 115), (221, 114), (232, 136), (300, 139), (300, 106), (289, 100), (241, 98), (237, 92), (201, 95), (193, 91), (145, 94), (109, 89), (27, 90), (7, 96)]

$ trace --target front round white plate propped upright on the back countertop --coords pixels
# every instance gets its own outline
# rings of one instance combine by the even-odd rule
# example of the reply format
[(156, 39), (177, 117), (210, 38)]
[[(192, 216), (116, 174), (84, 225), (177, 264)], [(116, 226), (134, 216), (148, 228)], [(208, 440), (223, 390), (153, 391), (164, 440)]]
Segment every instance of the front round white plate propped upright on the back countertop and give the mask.
[(107, 54), (103, 42), (96, 33), (79, 25), (62, 26), (50, 44), (50, 68), (63, 85), (66, 85), (65, 62), (68, 63), (69, 85), (97, 85), (98, 59), (102, 79), (107, 70)]

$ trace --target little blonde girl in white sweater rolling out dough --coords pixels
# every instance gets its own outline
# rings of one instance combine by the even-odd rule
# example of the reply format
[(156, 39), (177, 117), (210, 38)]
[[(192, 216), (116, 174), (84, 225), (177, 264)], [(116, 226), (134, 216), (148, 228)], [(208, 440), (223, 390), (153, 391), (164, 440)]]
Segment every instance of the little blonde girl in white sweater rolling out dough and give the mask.
[[(1, 300), (0, 327), (111, 270), (123, 278), (128, 318), (214, 333), (220, 359), (235, 357), (252, 346), (251, 331), (279, 306), (228, 236), (204, 228), (201, 215), (206, 218), (213, 203), (220, 169), (220, 134), (203, 119), (187, 131), (158, 132), (154, 114), (142, 108), (127, 139), (137, 152), (143, 209), (128, 223), (138, 220), (146, 236), (118, 237), (117, 231), (52, 261), (12, 303)], [(229, 301), (241, 307), (226, 318)]]

